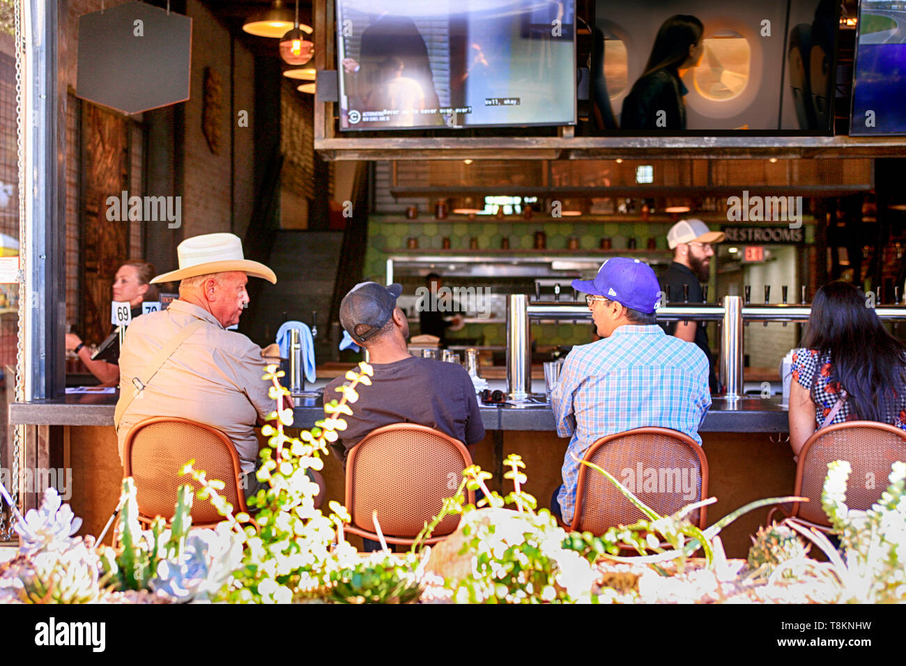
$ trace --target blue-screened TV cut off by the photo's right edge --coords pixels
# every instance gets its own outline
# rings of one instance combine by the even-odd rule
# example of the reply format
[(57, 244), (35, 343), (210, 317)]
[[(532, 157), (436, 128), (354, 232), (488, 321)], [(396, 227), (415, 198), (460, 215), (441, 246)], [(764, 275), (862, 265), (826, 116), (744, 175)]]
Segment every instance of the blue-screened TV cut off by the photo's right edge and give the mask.
[(859, 3), (850, 134), (906, 134), (906, 3)]

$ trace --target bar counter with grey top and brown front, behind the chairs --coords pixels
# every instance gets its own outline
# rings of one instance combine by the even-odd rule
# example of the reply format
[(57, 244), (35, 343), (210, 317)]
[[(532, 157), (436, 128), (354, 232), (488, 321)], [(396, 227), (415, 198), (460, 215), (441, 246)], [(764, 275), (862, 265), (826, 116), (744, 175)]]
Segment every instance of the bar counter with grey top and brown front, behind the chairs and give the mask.
[[(492, 388), (496, 383), (491, 382)], [(33, 440), (39, 450), (34, 452), (35, 467), (72, 468), (70, 503), (83, 518), (83, 534), (99, 534), (119, 498), (123, 470), (111, 428), (116, 401), (115, 394), (70, 394), (12, 403), (9, 408), (11, 424), (36, 430)], [(475, 461), (494, 473), (490, 486), (506, 490), (509, 482), (503, 479), (503, 460), (517, 453), (526, 465), (526, 491), (537, 497), (539, 507), (547, 507), (561, 482), (560, 468), (569, 442), (557, 437), (550, 407), (483, 406), (481, 417), (487, 435), (477, 445)], [(296, 399), (294, 428), (310, 428), (322, 418), (320, 396)], [(708, 507), (709, 524), (753, 499), (792, 493), (795, 463), (783, 437), (788, 431), (787, 413), (779, 398), (743, 398), (732, 403), (713, 398), (699, 431), (708, 458), (708, 496), (718, 497), (718, 503)], [(260, 433), (259, 439), (265, 443)], [(48, 462), (41, 465), (39, 460)], [(344, 477), (338, 458), (325, 459), (323, 476), (326, 499), (342, 502)], [(755, 533), (765, 516), (766, 510), (760, 509), (724, 529), (721, 536), (728, 555), (746, 556), (748, 535)]]

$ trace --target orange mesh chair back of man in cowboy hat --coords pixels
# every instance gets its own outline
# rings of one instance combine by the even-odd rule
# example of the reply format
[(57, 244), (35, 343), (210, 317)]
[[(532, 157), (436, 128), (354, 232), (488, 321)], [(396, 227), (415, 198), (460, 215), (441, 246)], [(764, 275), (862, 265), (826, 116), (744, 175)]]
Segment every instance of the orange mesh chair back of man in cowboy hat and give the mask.
[[(195, 458), (196, 469), (204, 469), (207, 478), (226, 484), (221, 495), (233, 505), (233, 513), (246, 511), (246, 497), (240, 488), (239, 457), (226, 435), (188, 419), (152, 417), (136, 423), (123, 446), (126, 476), (135, 480), (135, 494), (143, 522), (161, 516), (173, 519), (179, 486), (188, 483), (194, 490), (201, 485), (179, 470)], [(222, 516), (207, 500), (192, 502), (192, 525), (214, 526)]]

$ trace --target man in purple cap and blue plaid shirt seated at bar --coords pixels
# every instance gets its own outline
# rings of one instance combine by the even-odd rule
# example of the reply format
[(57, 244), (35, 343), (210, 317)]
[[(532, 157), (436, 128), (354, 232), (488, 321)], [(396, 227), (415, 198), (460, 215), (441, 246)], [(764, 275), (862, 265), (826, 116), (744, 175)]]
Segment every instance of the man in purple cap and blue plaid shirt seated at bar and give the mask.
[(572, 437), (564, 483), (551, 501), (567, 524), (579, 474), (570, 454), (582, 459), (596, 439), (644, 426), (679, 430), (701, 444), (699, 426), (711, 406), (708, 359), (656, 325), (659, 288), (650, 266), (615, 256), (593, 280), (573, 280), (573, 288), (589, 294), (602, 339), (573, 347), (551, 395), (557, 434)]

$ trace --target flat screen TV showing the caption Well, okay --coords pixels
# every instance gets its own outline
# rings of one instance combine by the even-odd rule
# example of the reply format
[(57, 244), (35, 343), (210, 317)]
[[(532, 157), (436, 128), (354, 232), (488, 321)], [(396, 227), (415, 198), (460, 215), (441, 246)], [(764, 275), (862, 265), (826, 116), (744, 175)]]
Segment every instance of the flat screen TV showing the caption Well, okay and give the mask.
[(341, 130), (576, 121), (575, 0), (336, 0)]

